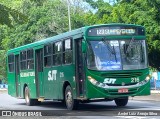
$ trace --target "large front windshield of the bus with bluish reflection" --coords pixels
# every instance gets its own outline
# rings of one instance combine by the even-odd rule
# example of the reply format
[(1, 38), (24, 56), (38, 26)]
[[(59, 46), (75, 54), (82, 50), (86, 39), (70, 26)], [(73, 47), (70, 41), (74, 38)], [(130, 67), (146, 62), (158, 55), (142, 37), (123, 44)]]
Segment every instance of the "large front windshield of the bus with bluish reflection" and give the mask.
[(89, 41), (87, 65), (91, 70), (101, 71), (145, 69), (145, 40)]

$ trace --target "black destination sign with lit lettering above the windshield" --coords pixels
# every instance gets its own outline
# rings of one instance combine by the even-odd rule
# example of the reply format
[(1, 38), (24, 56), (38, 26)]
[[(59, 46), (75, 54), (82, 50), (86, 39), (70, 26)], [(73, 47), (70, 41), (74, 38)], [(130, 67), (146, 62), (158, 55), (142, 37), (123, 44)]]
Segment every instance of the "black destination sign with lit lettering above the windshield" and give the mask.
[(136, 27), (97, 27), (88, 30), (88, 36), (106, 35), (144, 35), (144, 29)]

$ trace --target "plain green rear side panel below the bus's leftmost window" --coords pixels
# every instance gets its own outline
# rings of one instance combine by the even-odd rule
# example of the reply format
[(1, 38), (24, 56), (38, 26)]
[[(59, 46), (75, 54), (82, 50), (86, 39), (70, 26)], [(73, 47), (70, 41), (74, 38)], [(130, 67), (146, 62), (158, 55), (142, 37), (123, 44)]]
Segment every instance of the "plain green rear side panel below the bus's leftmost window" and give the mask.
[(8, 73), (8, 94), (16, 97), (16, 82), (14, 73)]

